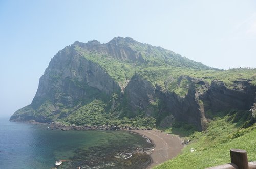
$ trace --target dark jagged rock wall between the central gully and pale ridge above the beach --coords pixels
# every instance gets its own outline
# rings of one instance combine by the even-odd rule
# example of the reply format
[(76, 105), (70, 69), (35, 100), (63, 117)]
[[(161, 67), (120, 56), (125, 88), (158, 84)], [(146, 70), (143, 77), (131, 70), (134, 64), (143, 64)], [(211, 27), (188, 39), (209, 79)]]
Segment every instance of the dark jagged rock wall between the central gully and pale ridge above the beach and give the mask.
[[(199, 130), (204, 130), (207, 120), (204, 116), (204, 108), (199, 103), (197, 90), (194, 87), (194, 83), (200, 82), (200, 80), (187, 76), (181, 78), (193, 81), (185, 97), (163, 92), (153, 87), (150, 82), (142, 79), (139, 75), (135, 75), (125, 89), (125, 95), (128, 98), (126, 104), (134, 113), (142, 110), (147, 116), (154, 116), (150, 105), (154, 104), (156, 99), (160, 99), (161, 105), (158, 107), (157, 114), (161, 114), (162, 111), (169, 112), (166, 115), (167, 119), (161, 122), (162, 125), (173, 123), (175, 119), (194, 124)], [(172, 122), (168, 117), (172, 117)], [(166, 125), (164, 126), (166, 127)]]

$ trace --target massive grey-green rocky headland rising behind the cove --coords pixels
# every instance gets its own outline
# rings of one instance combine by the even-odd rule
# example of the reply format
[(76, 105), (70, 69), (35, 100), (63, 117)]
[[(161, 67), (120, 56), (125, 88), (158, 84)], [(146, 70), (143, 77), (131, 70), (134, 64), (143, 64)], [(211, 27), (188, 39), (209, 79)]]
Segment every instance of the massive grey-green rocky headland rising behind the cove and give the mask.
[[(222, 71), (129, 37), (106, 44), (75, 42), (54, 56), (32, 103), (10, 120), (67, 121), (73, 112), (82, 116), (79, 108), (99, 99), (106, 104), (106, 116), (142, 114), (162, 127), (184, 121), (205, 130), (208, 119), (219, 111), (251, 110), (255, 119), (256, 87), (251, 82), (255, 72), (250, 70), (250, 79), (236, 79), (227, 87), (204, 74)], [(201, 78), (195, 77), (200, 73)]]

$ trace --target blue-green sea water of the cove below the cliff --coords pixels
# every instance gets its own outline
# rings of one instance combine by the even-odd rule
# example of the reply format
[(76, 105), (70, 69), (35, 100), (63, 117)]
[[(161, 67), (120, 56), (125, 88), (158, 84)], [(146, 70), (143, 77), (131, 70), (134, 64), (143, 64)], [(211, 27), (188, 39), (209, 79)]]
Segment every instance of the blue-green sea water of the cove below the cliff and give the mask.
[(135, 148), (151, 148), (141, 135), (127, 131), (59, 131), (48, 125), (0, 119), (0, 168), (145, 168), (147, 154), (116, 158)]

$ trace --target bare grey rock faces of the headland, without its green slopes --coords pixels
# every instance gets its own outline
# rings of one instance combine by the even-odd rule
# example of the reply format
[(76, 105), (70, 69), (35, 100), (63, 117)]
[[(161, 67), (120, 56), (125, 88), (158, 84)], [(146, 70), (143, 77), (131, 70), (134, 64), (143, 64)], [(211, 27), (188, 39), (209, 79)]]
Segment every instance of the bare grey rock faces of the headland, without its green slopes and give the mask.
[[(124, 105), (115, 109), (119, 111), (117, 114), (123, 112), (126, 115), (129, 111), (129, 116), (134, 117), (144, 112), (145, 116), (158, 118), (159, 124), (164, 127), (172, 125), (177, 120), (194, 124), (198, 130), (205, 130), (208, 118), (206, 112), (209, 110), (212, 114), (229, 109), (250, 110), (252, 118), (256, 119), (256, 87), (251, 86), (246, 80), (234, 81), (233, 88), (229, 89), (222, 81), (213, 80), (209, 84), (199, 78), (180, 76), (177, 85), (180, 85), (182, 80), (188, 85), (185, 87), (186, 94), (179, 95), (162, 90), (157, 84), (154, 86), (139, 73), (135, 73), (132, 78), (129, 76), (131, 79), (125, 79), (127, 86), (122, 86), (120, 81), (114, 81), (104, 68), (76, 51), (77, 46), (86, 53), (106, 55), (121, 61), (122, 64), (129, 62), (132, 65), (146, 65), (146, 57), (155, 57), (156, 61), (159, 59), (156, 54), (161, 55), (161, 51), (163, 53), (160, 59), (173, 57), (172, 62), (186, 61), (171, 51), (141, 44), (129, 37), (117, 37), (106, 44), (96, 40), (88, 43), (77, 41), (55, 55), (40, 78), (32, 103), (16, 111), (11, 120), (51, 122), (56, 117), (67, 117), (98, 95), (110, 97), (115, 92), (119, 94), (112, 100), (110, 107), (113, 109), (118, 107), (117, 105)], [(140, 49), (143, 51), (140, 52)], [(172, 83), (172, 77), (170, 79), (166, 81), (166, 86)], [(70, 112), (62, 114), (62, 109), (68, 109)]]

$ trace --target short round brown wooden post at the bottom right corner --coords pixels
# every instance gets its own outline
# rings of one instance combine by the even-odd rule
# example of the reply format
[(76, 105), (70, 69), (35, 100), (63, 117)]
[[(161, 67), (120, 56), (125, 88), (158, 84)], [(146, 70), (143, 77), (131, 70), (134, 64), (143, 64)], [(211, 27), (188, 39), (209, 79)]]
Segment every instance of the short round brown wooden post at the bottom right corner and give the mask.
[(236, 164), (239, 169), (249, 169), (247, 153), (245, 150), (230, 149), (231, 162)]

